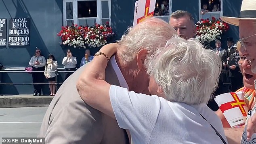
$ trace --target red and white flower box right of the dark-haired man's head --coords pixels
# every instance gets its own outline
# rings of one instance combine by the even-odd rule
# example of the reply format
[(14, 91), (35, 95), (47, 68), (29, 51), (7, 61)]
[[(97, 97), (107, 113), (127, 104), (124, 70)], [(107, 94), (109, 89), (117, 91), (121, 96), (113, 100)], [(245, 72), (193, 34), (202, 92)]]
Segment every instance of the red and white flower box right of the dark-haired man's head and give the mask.
[(204, 44), (220, 40), (223, 32), (226, 32), (229, 29), (229, 25), (224, 21), (212, 17), (212, 21), (209, 19), (201, 19), (198, 21), (196, 23), (196, 28), (196, 38)]

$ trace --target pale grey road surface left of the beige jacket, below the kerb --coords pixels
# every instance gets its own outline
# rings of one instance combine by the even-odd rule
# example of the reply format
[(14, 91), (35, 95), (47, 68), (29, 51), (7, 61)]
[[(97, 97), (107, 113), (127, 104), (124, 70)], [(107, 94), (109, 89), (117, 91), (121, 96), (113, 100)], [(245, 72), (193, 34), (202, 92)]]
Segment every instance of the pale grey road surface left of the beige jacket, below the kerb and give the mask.
[(0, 109), (2, 137), (37, 137), (48, 106)]

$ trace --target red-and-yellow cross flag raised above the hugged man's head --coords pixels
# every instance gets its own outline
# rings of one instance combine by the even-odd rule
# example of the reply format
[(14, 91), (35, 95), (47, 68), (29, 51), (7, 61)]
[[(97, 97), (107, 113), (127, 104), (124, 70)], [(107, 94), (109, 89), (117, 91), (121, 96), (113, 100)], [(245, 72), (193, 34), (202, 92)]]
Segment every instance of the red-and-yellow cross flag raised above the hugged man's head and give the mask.
[(156, 0), (138, 0), (135, 2), (133, 26), (143, 22), (147, 17), (153, 17)]

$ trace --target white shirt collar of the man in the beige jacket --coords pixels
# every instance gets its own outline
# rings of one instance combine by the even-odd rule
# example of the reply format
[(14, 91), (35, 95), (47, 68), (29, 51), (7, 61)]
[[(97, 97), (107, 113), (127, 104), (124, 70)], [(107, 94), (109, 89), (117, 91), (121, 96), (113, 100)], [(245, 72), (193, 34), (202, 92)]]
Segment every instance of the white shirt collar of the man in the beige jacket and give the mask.
[(128, 84), (126, 83), (126, 80), (124, 79), (124, 76), (118, 67), (118, 63), (116, 63), (115, 56), (112, 56), (110, 58), (110, 63), (115, 71), (116, 76), (118, 77), (118, 81), (120, 83), (120, 86), (123, 88), (127, 88), (129, 90)]

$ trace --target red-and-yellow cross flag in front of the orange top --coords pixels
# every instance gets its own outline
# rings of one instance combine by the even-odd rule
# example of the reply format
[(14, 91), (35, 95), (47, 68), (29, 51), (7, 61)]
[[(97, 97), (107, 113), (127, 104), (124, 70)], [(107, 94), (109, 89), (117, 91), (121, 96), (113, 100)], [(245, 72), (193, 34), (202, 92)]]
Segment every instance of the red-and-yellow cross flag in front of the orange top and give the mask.
[(248, 108), (242, 92), (220, 94), (215, 101), (231, 127), (245, 123)]

